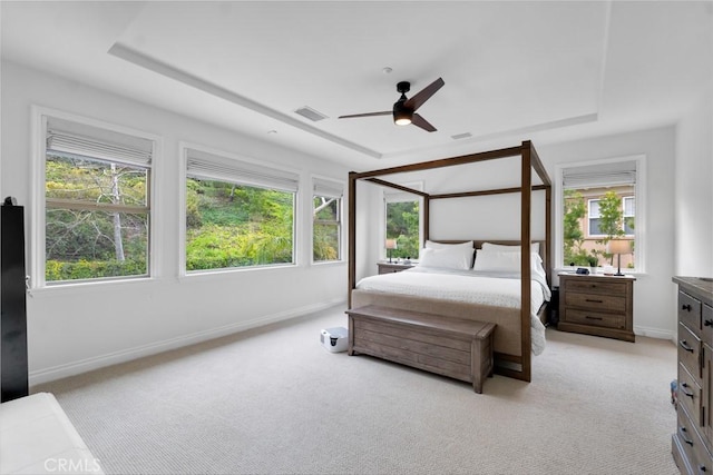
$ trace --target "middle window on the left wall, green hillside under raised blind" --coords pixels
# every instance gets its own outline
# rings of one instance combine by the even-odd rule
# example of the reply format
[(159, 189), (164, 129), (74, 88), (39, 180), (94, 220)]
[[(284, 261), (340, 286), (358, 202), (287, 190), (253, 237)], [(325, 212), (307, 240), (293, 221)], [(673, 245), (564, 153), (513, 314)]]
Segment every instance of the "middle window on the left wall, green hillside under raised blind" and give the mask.
[(294, 264), (299, 176), (186, 149), (186, 271)]

